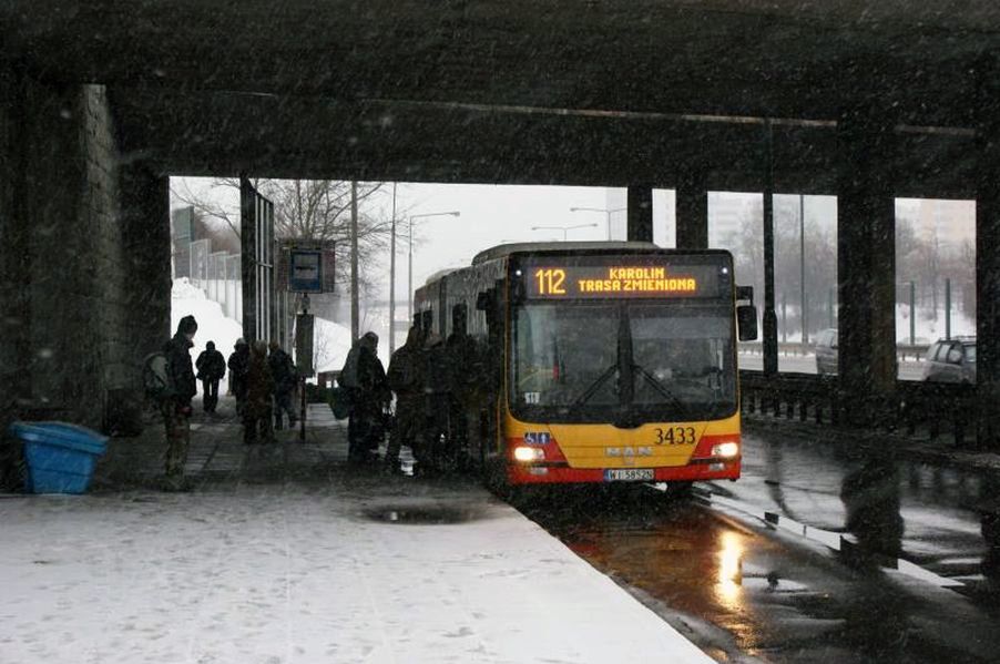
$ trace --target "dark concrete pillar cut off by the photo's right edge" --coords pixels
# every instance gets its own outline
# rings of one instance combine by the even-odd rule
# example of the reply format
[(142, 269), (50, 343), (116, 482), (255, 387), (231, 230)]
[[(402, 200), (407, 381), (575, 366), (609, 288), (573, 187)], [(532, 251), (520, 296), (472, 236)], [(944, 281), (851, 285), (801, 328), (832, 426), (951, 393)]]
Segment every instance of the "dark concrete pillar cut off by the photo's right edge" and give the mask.
[(979, 127), (976, 196), (978, 445), (1000, 449), (1000, 123)]

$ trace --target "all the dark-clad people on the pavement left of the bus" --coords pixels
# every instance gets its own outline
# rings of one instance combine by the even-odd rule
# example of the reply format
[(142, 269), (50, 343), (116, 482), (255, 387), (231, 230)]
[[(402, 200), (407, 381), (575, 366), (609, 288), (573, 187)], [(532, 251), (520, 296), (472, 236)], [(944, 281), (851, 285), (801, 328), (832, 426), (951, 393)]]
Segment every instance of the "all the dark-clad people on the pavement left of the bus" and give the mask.
[[(457, 462), (467, 453), (477, 435), (479, 417), (487, 395), (480, 386), (484, 354), (467, 330), (465, 305), (452, 309), (452, 331), (442, 339), (425, 325), (414, 325), (406, 344), (392, 354), (388, 372), (378, 359), (378, 336), (365, 334), (347, 356), (338, 382), (348, 396), (348, 461), (378, 461), (379, 443), (389, 433), (382, 459), (389, 472), (399, 472), (402, 446), (414, 451), (418, 468)], [(203, 384), (203, 408), (215, 412), (218, 382), (229, 372), (231, 390), (243, 423), (246, 445), (274, 442), (275, 429), (285, 420), (296, 423), (293, 395), (298, 372), (292, 357), (277, 343), (247, 344), (238, 339), (228, 360), (208, 341), (197, 361), (191, 348), (197, 323), (193, 316), (181, 319), (176, 334), (162, 351), (152, 354), (144, 369), (147, 394), (163, 416), (166, 433), (165, 474), (167, 487), (183, 487), (183, 472), (190, 441), (192, 400), (196, 381)], [(157, 368), (155, 356), (162, 359)], [(197, 374), (195, 374), (195, 367)], [(152, 387), (151, 387), (152, 386)], [(396, 398), (395, 418), (390, 415)]]

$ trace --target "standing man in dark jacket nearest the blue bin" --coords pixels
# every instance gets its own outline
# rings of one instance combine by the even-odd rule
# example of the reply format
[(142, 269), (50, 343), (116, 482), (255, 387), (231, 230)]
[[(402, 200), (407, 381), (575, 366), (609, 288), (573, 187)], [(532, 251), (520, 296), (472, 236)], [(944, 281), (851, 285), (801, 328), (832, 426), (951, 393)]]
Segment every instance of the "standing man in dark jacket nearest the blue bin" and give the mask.
[(160, 402), (166, 429), (165, 474), (170, 490), (184, 487), (184, 466), (191, 443), (191, 400), (197, 394), (194, 367), (191, 365), (191, 347), (194, 346), (197, 329), (194, 316), (184, 316), (177, 324), (177, 333), (163, 346), (166, 370), (173, 386), (173, 395)]

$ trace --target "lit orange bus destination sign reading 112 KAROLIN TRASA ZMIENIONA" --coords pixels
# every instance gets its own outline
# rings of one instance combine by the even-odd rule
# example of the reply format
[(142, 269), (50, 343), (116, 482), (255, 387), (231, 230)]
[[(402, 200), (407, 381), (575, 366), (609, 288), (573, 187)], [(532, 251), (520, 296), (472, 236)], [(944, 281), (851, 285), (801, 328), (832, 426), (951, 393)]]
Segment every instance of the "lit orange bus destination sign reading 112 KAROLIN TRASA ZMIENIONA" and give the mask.
[[(639, 262), (636, 262), (639, 263)], [(529, 261), (521, 267), (530, 298), (716, 297), (721, 265), (630, 264), (604, 265), (571, 261)]]

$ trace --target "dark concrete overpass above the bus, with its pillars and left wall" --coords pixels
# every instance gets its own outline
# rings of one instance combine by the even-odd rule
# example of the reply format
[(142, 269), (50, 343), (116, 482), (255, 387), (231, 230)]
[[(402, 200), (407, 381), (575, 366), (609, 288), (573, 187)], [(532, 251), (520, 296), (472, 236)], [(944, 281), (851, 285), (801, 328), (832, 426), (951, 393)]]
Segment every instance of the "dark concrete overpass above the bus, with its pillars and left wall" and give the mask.
[(169, 333), (166, 176), (241, 172), (627, 186), (634, 238), (674, 187), (688, 247), (710, 190), (836, 194), (861, 402), (895, 380), (892, 198), (975, 197), (980, 391), (1000, 394), (993, 2), (217, 4), (0, 7), (4, 420), (94, 423)]

